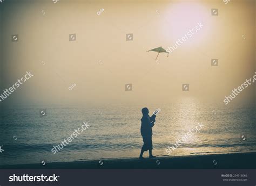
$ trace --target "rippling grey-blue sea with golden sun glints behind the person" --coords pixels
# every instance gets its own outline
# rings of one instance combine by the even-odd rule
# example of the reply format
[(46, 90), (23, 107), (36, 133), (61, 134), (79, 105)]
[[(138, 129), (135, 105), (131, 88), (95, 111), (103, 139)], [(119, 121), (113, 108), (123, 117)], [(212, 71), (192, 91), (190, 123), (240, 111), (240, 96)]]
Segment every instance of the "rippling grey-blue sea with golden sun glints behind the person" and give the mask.
[[(153, 126), (153, 155), (192, 156), (256, 152), (255, 105), (182, 101), (160, 105), (24, 105), (1, 111), (0, 165), (138, 158), (142, 108), (160, 109)], [(53, 146), (77, 134), (57, 153)], [(181, 139), (201, 123), (200, 131)], [(170, 154), (166, 149), (177, 140)], [(148, 157), (147, 152), (144, 157)]]

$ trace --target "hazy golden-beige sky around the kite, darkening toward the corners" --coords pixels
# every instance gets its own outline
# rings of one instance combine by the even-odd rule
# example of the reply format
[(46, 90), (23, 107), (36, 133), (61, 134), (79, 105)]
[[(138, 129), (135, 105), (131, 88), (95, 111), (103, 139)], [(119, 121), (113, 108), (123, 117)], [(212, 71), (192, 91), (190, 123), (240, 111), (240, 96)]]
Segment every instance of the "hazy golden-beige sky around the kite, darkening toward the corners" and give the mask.
[[(34, 75), (0, 104), (151, 104), (183, 97), (221, 104), (254, 75), (255, 1), (9, 0), (0, 6), (0, 94), (26, 71)], [(198, 23), (201, 30), (168, 58), (160, 53), (156, 62), (157, 53), (146, 52), (167, 49)], [(76, 41), (69, 41), (73, 33)], [(132, 91), (125, 91), (128, 83)], [(184, 83), (190, 91), (182, 91)], [(255, 84), (232, 104), (254, 100)]]

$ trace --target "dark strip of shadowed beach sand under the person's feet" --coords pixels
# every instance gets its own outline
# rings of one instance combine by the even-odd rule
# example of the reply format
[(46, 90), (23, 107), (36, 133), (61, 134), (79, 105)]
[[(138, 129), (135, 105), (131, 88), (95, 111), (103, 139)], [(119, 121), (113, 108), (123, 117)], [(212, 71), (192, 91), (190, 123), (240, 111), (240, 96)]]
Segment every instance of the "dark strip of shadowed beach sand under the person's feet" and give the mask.
[(0, 169), (255, 169), (256, 153), (210, 154), (153, 159), (103, 159), (75, 162), (18, 164)]

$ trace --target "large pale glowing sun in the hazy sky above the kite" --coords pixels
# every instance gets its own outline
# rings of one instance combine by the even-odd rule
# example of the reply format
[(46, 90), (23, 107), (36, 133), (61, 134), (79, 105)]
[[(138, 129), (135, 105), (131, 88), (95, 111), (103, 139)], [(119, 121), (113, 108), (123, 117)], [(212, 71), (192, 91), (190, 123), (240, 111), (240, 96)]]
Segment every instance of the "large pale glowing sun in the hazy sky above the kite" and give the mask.
[(208, 8), (196, 2), (177, 2), (169, 4), (165, 10), (163, 32), (168, 41), (177, 41), (198, 24), (203, 24), (203, 29), (195, 34), (193, 40), (187, 42), (190, 45), (193, 41), (200, 42), (209, 31), (211, 19), (209, 19)]

